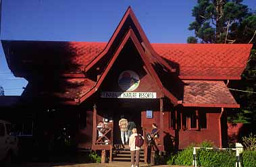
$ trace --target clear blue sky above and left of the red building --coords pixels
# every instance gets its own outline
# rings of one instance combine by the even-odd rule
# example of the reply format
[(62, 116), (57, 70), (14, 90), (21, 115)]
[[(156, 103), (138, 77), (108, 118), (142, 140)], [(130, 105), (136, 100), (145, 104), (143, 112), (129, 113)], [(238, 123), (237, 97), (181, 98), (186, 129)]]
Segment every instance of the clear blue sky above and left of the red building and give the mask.
[[(186, 43), (196, 0), (2, 0), (1, 39), (107, 42), (130, 5), (150, 42)], [(256, 9), (255, 0), (244, 1)], [(0, 86), (20, 95), (27, 81), (7, 67), (0, 44)]]

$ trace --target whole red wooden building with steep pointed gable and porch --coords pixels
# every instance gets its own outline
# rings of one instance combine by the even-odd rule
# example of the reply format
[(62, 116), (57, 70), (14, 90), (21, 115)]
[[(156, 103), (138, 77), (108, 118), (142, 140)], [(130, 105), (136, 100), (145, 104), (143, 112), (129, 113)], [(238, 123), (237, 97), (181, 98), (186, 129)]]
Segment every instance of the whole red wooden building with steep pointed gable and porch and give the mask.
[[(140, 133), (156, 123), (159, 150), (205, 140), (224, 146), (225, 108), (239, 108), (228, 80), (240, 79), (251, 51), (251, 44), (152, 44), (130, 7), (109, 42), (2, 44), (11, 71), (28, 80), (23, 102), (39, 114), (58, 108), (47, 124), (70, 123), (78, 146), (93, 149), (120, 142), (121, 114)], [(97, 143), (101, 119), (110, 120), (108, 145)]]

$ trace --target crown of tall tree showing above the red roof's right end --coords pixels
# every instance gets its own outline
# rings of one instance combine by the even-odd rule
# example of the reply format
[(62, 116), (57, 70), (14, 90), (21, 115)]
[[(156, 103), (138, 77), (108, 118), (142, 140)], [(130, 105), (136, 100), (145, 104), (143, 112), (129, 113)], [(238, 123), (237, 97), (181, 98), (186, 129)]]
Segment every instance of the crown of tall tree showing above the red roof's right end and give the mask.
[(256, 15), (242, 0), (198, 0), (192, 15), (195, 21), (188, 30), (201, 43), (248, 43), (255, 33)]

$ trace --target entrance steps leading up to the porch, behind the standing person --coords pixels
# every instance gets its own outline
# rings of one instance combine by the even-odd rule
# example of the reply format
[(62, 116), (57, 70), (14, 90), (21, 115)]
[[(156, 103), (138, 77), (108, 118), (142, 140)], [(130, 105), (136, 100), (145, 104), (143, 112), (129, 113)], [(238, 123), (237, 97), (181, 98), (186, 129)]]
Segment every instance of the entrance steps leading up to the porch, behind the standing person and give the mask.
[[(144, 149), (140, 149), (140, 162), (144, 162)], [(130, 162), (130, 149), (128, 145), (113, 145), (113, 162)]]

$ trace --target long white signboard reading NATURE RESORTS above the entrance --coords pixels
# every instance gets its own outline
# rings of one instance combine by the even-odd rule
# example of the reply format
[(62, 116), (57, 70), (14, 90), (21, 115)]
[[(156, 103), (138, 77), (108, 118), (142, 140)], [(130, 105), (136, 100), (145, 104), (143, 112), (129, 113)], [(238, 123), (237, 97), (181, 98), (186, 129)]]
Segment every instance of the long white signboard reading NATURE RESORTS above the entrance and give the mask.
[(101, 92), (101, 98), (157, 98), (156, 92)]

